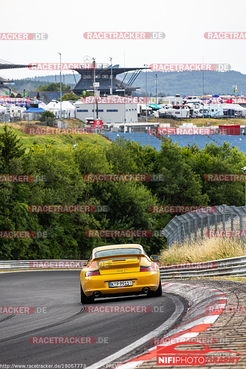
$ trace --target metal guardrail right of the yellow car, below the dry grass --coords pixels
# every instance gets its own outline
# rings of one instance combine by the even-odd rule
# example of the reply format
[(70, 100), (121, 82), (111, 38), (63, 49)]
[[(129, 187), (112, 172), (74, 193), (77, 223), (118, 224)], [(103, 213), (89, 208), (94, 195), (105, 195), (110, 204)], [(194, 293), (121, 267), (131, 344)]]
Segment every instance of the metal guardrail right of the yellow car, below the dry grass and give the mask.
[(246, 255), (201, 263), (160, 266), (161, 279), (238, 274), (246, 274)]

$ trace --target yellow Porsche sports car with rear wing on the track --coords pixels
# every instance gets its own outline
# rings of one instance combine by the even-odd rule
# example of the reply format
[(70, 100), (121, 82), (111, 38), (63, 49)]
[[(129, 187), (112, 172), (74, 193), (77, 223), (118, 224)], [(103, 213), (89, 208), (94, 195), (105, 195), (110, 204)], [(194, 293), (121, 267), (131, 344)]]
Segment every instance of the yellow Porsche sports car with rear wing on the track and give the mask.
[(157, 255), (150, 258), (138, 244), (94, 248), (80, 272), (80, 301), (93, 303), (96, 297), (147, 294), (162, 296)]

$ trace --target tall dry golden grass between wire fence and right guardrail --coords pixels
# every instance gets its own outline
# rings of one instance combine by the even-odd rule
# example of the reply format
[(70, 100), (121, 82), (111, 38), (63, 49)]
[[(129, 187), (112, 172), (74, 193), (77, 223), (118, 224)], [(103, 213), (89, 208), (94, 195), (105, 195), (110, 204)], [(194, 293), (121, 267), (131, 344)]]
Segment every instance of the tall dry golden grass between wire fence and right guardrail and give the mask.
[(246, 255), (246, 245), (240, 239), (204, 238), (198, 241), (174, 244), (164, 250), (160, 261), (168, 263), (202, 262)]

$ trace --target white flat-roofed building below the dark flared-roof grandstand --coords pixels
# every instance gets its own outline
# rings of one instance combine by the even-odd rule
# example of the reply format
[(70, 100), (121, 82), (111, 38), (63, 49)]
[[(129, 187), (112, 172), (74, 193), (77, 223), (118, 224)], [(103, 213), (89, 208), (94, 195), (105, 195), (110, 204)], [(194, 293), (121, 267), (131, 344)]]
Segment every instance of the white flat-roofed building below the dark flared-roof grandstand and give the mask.
[[(86, 117), (94, 116), (94, 104), (82, 103), (77, 101), (75, 106), (75, 118), (86, 121)], [(120, 123), (135, 123), (138, 121), (137, 104), (97, 104), (98, 107), (98, 119), (102, 119), (105, 124)], [(97, 111), (97, 107), (96, 111)]]

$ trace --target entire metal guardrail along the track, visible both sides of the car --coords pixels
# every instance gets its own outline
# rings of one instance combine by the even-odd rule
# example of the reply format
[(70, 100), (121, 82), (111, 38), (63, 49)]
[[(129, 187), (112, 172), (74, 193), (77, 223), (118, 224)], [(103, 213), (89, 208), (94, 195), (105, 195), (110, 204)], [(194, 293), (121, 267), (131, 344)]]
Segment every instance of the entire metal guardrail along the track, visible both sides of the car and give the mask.
[[(40, 269), (81, 269), (79, 260), (7, 260), (0, 261), (1, 270), (40, 270)], [(165, 263), (165, 262), (163, 262)], [(160, 277), (182, 278), (201, 276), (246, 275), (246, 255), (236, 258), (211, 260), (200, 263), (187, 263), (162, 266)]]

